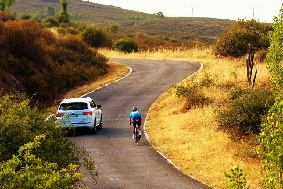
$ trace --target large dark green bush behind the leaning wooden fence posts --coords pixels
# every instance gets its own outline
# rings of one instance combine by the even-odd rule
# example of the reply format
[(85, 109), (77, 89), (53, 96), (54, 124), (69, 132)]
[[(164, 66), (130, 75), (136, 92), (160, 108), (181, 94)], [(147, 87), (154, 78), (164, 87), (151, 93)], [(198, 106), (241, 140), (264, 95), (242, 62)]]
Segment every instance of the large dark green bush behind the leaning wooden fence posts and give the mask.
[(222, 36), (216, 40), (213, 52), (216, 56), (239, 57), (247, 53), (248, 44), (255, 51), (269, 47), (268, 23), (256, 19), (239, 19), (231, 28), (224, 28)]

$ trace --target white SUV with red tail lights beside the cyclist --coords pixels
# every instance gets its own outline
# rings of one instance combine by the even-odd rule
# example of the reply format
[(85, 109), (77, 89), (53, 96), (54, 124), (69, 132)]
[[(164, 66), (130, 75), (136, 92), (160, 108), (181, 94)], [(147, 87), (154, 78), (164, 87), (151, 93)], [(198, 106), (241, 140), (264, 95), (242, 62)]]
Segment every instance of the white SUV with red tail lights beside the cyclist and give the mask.
[(91, 134), (96, 133), (96, 128), (102, 129), (101, 105), (96, 105), (90, 98), (64, 99), (57, 107), (56, 122), (65, 127), (70, 125), (80, 128), (88, 128)]

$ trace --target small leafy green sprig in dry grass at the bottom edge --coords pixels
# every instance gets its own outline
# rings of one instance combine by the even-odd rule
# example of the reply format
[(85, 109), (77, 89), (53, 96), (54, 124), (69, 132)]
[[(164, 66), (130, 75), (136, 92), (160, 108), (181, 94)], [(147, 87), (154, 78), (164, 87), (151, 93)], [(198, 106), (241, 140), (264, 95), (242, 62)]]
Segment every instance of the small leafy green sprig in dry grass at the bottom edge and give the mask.
[(236, 167), (233, 166), (228, 173), (224, 172), (224, 174), (229, 179), (228, 189), (249, 189), (245, 178), (247, 175), (243, 173), (239, 164)]

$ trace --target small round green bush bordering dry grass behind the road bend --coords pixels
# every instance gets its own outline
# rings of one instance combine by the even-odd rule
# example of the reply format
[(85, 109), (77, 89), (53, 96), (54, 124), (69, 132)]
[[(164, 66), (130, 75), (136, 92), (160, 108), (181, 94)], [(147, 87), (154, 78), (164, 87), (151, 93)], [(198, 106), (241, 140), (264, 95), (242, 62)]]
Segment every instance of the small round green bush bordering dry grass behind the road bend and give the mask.
[(138, 52), (138, 45), (134, 40), (129, 38), (121, 38), (113, 42), (112, 47), (118, 51), (123, 52)]

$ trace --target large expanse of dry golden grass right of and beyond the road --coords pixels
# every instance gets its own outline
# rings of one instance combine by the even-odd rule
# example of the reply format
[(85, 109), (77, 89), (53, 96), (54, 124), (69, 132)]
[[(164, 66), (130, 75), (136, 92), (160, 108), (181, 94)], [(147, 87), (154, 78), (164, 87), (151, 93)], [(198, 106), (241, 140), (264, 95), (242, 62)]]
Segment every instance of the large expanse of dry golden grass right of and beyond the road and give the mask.
[[(231, 163), (240, 163), (247, 173), (247, 182), (251, 188), (259, 188), (256, 172), (261, 170), (258, 159), (245, 159), (239, 156), (240, 148), (245, 143), (233, 142), (227, 134), (216, 130), (213, 111), (225, 106), (225, 99), (231, 87), (238, 84), (246, 86), (245, 58), (217, 59), (210, 48), (180, 48), (176, 51), (158, 49), (154, 52), (121, 53), (100, 49), (108, 58), (161, 59), (201, 62), (205, 68), (196, 74), (200, 81), (204, 75), (214, 79), (214, 84), (204, 87), (202, 93), (213, 103), (194, 106), (184, 111), (184, 102), (176, 98), (174, 90), (169, 89), (161, 95), (149, 110), (146, 132), (149, 140), (184, 173), (194, 176), (210, 187), (227, 188), (224, 171), (231, 168)], [(265, 65), (256, 65), (258, 69), (256, 85), (267, 86), (268, 71)], [(188, 81), (182, 81), (185, 83)], [(174, 104), (174, 106), (172, 106)], [(166, 115), (166, 116), (164, 116)]]

